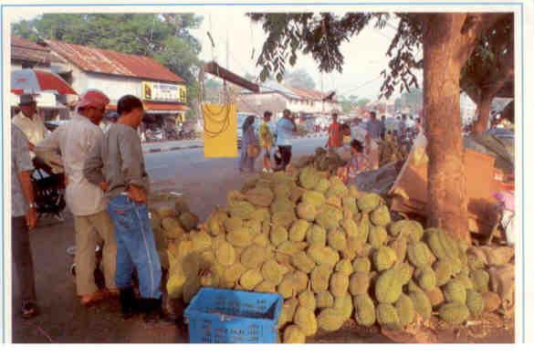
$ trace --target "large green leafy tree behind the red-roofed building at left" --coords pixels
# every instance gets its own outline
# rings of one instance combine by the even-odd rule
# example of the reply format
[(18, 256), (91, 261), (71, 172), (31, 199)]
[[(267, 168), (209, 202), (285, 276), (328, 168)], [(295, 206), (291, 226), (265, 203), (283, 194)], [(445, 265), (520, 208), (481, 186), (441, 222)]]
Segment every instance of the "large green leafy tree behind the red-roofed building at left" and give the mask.
[(46, 14), (14, 24), (13, 32), (33, 41), (56, 39), (154, 58), (187, 82), (191, 116), (202, 63), (201, 44), (190, 30), (202, 21), (194, 14)]

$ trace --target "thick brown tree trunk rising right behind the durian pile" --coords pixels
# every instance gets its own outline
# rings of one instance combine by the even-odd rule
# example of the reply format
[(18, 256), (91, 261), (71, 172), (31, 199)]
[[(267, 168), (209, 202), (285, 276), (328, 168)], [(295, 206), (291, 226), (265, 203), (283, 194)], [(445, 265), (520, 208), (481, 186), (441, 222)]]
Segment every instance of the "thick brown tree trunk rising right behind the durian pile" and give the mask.
[(424, 124), (428, 140), (429, 226), (470, 241), (460, 119), (460, 71), (466, 15), (424, 15)]

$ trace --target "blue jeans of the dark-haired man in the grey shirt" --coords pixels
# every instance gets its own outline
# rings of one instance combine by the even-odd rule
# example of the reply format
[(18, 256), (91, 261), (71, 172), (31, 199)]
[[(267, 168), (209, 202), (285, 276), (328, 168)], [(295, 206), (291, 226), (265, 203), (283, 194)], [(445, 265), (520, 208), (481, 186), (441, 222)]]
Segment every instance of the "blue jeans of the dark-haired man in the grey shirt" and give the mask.
[(110, 199), (108, 213), (117, 241), (117, 288), (131, 288), (131, 273), (137, 269), (143, 299), (160, 299), (162, 264), (156, 249), (147, 206), (120, 194)]

